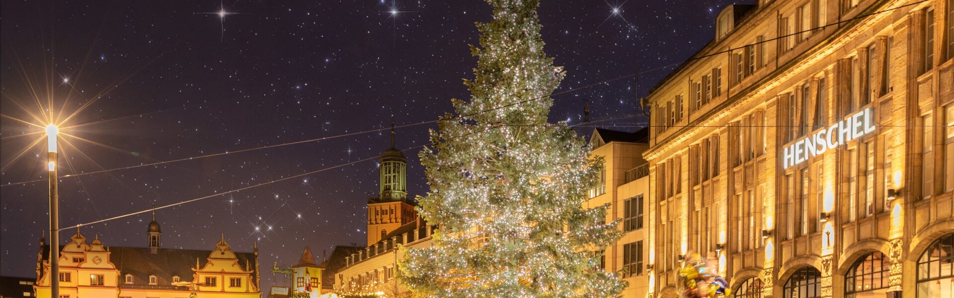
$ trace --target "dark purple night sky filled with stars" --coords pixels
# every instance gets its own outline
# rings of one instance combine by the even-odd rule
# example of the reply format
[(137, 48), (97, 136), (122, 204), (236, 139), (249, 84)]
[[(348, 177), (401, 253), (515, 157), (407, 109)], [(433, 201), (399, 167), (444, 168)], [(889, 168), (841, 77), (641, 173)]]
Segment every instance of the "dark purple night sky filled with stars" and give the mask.
[[(592, 125), (633, 131), (646, 121), (635, 117), (633, 78), (580, 88), (658, 69), (639, 75), (645, 96), (712, 39), (729, 4), (543, 1), (545, 51), (567, 71), (551, 120), (583, 124), (587, 136)], [(468, 98), (467, 45), (489, 12), (478, 0), (3, 1), (0, 274), (33, 276), (49, 228), (46, 143), (31, 146), (43, 129), (23, 121), (74, 115), (60, 125), (70, 137), (59, 175), (83, 175), (59, 180), (62, 226), (216, 195), (377, 157), (391, 116), (400, 126), (451, 112), (450, 98)], [(435, 127), (398, 128), (397, 147), (424, 145)], [(411, 195), (426, 191), (419, 150), (405, 152)], [(153, 165), (130, 168), (142, 164)], [(364, 203), (377, 191), (378, 164), (365, 160), (161, 209), (156, 220), (163, 247), (211, 250), (221, 233), (239, 251), (259, 242), (267, 292), (281, 280), (267, 268), (294, 265), (305, 245), (318, 259), (363, 245)], [(81, 231), (147, 246), (151, 220)]]

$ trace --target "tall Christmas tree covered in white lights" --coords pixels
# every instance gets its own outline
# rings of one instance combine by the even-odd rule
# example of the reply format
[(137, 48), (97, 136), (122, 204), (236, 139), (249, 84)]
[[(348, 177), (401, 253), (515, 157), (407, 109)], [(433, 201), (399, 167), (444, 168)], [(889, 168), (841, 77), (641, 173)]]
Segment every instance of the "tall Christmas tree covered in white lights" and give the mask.
[(584, 208), (602, 161), (566, 122), (547, 122), (564, 77), (543, 52), (539, 1), (488, 0), (471, 98), (431, 131), (421, 152), (430, 192), (420, 214), (439, 227), (409, 249), (404, 285), (436, 297), (608, 297), (624, 284), (600, 268), (620, 236), (606, 207)]

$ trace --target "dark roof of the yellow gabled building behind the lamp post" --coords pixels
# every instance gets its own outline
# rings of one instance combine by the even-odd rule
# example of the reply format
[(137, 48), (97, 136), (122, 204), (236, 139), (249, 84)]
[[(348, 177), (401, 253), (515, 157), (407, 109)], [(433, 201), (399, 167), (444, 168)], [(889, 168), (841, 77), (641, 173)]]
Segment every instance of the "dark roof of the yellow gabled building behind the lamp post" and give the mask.
[[(43, 245), (43, 259), (50, 259), (50, 245)], [(187, 290), (187, 287), (172, 286), (173, 276), (178, 276), (183, 282), (193, 280), (193, 269), (196, 263), (205, 266), (209, 263), (209, 253), (213, 250), (191, 250), (158, 248), (156, 254), (150, 247), (109, 247), (110, 262), (119, 270), (119, 287), (153, 287), (176, 288)], [(239, 266), (252, 271), (255, 276), (256, 256), (253, 252), (235, 252), (239, 259)], [(248, 263), (246, 263), (248, 262)], [(245, 267), (248, 264), (249, 267)], [(133, 275), (133, 285), (126, 285), (126, 274)], [(149, 276), (156, 275), (156, 286), (149, 285)], [(259, 285), (256, 285), (259, 286)]]

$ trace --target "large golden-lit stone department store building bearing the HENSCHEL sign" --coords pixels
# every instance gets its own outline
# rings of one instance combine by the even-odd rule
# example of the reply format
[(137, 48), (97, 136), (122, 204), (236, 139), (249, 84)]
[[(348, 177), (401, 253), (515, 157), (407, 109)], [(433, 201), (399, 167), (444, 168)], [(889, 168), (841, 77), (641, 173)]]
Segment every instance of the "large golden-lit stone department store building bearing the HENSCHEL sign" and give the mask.
[(954, 1), (731, 6), (648, 102), (649, 297), (954, 297)]

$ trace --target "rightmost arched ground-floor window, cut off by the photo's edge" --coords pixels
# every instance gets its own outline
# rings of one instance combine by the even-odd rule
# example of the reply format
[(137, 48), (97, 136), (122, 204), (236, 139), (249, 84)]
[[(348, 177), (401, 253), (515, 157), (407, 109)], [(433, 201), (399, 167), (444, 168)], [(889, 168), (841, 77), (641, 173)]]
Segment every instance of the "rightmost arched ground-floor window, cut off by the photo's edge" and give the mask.
[(941, 298), (954, 292), (954, 234), (947, 234), (918, 259), (918, 298)]

